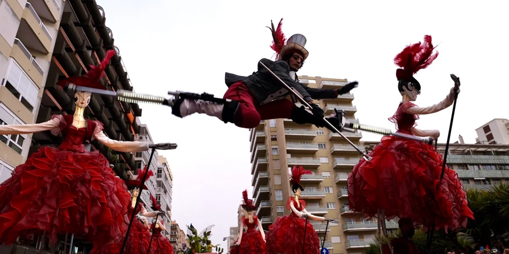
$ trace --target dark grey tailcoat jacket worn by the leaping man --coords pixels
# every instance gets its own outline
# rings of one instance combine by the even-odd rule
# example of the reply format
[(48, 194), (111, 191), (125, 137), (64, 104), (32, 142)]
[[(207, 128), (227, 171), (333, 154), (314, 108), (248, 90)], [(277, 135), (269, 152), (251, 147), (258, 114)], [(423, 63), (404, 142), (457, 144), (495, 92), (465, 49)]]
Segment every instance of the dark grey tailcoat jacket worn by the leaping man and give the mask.
[[(312, 99), (333, 99), (336, 98), (335, 89), (317, 89), (304, 86), (302, 83), (292, 80), (290, 77), (290, 66), (286, 61), (272, 61), (266, 58), (260, 60), (267, 66), (277, 77), (285, 81), (288, 86), (298, 91), (303, 99), (308, 102)], [(260, 63), (258, 71), (247, 77), (238, 76), (231, 73), (225, 73), (224, 82), (228, 87), (232, 84), (244, 81), (247, 88), (254, 94), (257, 103), (265, 104), (274, 99), (288, 95), (288, 90), (275, 79)]]

